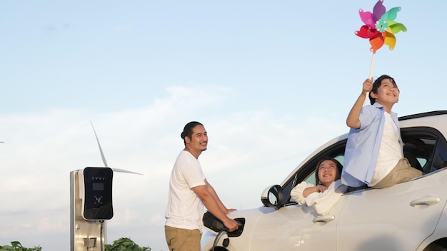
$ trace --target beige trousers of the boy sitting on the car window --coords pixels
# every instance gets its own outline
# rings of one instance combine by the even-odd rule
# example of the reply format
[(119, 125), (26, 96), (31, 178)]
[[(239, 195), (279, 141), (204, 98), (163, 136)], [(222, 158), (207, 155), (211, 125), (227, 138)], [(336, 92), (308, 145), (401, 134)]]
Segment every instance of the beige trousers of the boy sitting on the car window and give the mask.
[(412, 168), (406, 158), (401, 158), (393, 170), (391, 170), (385, 178), (371, 188), (388, 188), (421, 175), (422, 172), (416, 168)]

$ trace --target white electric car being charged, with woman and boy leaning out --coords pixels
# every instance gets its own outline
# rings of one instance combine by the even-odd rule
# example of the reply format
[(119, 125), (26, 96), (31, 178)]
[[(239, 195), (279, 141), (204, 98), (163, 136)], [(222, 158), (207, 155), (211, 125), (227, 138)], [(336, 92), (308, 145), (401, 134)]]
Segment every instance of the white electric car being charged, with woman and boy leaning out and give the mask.
[(264, 206), (232, 212), (232, 218), (244, 221), (236, 234), (204, 232), (201, 250), (447, 250), (447, 111), (399, 121), (405, 156), (423, 170), (421, 177), (391, 188), (350, 189), (324, 216), (298, 205), (291, 189), (301, 181), (315, 182), (320, 158), (331, 156), (343, 164), (344, 134), (309, 155), (281, 185), (266, 188)]

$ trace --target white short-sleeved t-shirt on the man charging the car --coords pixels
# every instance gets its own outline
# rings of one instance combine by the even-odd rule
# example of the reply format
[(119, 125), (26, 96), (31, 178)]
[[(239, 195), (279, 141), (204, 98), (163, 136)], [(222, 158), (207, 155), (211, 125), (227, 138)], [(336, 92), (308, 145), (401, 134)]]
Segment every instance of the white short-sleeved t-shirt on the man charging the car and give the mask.
[(199, 185), (205, 185), (205, 175), (199, 160), (182, 150), (169, 180), (165, 225), (189, 230), (201, 229), (204, 204), (191, 189)]

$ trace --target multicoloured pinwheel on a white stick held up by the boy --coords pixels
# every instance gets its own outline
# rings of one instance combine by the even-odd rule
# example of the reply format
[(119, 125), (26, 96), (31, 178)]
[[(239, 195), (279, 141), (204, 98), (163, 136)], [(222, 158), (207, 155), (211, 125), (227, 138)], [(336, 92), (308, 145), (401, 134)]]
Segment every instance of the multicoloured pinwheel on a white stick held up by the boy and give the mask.
[(396, 45), (396, 36), (394, 34), (399, 31), (406, 31), (406, 27), (403, 24), (394, 21), (398, 11), (401, 9), (401, 7), (394, 7), (386, 11), (385, 6), (383, 6), (383, 0), (378, 0), (372, 13), (370, 11), (363, 11), (363, 9), (358, 11), (364, 25), (355, 34), (363, 39), (369, 39), (369, 43), (371, 43), (370, 50), (373, 52), (373, 60), (371, 61), (371, 69), (369, 71), (370, 78), (373, 73), (376, 51), (383, 44), (386, 44), (390, 50), (393, 50)]

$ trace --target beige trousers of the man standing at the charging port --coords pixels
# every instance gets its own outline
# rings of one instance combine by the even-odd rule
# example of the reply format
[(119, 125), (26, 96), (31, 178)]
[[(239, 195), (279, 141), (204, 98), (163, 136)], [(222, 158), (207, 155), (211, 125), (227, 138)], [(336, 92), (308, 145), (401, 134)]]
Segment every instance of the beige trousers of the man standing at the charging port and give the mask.
[(200, 230), (164, 226), (169, 251), (200, 251)]

